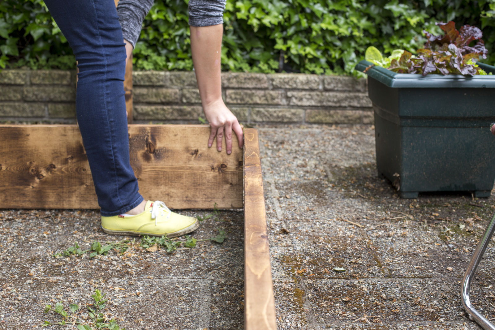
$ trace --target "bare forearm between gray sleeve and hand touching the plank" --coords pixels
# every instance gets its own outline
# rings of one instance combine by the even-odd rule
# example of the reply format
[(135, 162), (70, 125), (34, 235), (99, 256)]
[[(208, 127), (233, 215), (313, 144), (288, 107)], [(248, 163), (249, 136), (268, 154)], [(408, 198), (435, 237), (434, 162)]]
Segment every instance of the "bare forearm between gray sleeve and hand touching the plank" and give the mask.
[(220, 57), (223, 25), (191, 26), (191, 52), (203, 108), (222, 100)]

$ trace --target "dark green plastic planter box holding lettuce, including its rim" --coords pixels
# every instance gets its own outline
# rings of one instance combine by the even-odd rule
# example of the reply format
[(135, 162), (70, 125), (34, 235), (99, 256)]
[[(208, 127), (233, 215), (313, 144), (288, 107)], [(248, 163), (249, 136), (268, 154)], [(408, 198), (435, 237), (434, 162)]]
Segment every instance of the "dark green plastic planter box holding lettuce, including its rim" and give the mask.
[(398, 74), (368, 61), (375, 112), (378, 174), (402, 198), (426, 191), (469, 191), (489, 197), (495, 181), (494, 75)]

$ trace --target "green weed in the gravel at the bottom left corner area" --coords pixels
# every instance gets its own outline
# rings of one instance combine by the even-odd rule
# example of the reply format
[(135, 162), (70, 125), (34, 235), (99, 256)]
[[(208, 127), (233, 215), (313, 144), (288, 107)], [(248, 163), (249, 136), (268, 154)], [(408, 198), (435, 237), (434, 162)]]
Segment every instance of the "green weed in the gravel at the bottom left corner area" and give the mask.
[[(76, 243), (77, 244), (77, 243)], [(103, 313), (102, 310), (105, 308), (105, 302), (108, 299), (103, 299), (105, 297), (106, 293), (101, 294), (101, 291), (99, 289), (95, 290), (95, 293), (92, 294), (91, 296), (95, 300), (94, 303), (88, 304), (86, 306), (88, 308), (88, 316), (90, 321), (84, 321), (83, 318), (81, 317), (80, 313), (80, 307), (77, 304), (70, 304), (69, 305), (69, 310), (70, 310), (70, 315), (69, 312), (64, 310), (64, 306), (62, 302), (57, 302), (55, 304), (55, 307), (52, 308), (51, 305), (46, 305), (45, 306), (45, 313), (48, 313), (50, 311), (60, 315), (62, 317), (62, 321), (56, 322), (56, 323), (51, 323), (49, 321), (45, 321), (42, 324), (42, 327), (48, 327), (48, 326), (54, 326), (54, 325), (69, 325), (72, 324), (72, 326), (77, 325), (78, 330), (125, 330), (124, 328), (120, 328), (117, 325), (117, 321), (114, 319), (108, 319)], [(93, 306), (91, 308), (90, 306)], [(84, 319), (88, 319), (87, 317)]]

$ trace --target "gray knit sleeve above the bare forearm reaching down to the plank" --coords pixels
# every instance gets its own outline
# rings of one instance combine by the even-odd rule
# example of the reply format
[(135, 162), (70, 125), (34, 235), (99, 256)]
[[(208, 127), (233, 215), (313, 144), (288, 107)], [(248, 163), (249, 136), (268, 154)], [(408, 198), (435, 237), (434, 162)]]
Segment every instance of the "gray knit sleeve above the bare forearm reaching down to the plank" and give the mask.
[(189, 25), (222, 24), (225, 2), (226, 0), (189, 0)]

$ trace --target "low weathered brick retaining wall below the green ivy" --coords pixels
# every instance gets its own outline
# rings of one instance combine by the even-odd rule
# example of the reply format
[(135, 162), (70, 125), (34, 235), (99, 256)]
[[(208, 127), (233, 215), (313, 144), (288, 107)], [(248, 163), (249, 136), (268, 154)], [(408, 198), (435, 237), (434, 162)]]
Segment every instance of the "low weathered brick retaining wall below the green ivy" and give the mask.
[[(75, 71), (0, 72), (0, 121), (75, 122)], [(193, 72), (133, 73), (136, 123), (198, 123)], [(223, 97), (242, 123), (371, 124), (366, 81), (344, 76), (222, 73)]]

